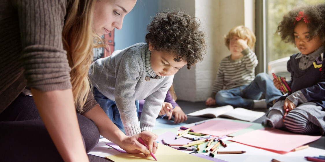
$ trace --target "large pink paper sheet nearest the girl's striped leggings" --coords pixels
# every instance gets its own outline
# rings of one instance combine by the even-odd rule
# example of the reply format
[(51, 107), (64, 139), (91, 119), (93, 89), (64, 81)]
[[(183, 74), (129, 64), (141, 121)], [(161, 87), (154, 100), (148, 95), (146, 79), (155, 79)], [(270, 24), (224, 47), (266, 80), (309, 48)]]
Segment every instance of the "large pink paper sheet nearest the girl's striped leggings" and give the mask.
[(296, 147), (318, 140), (320, 137), (290, 133), (274, 128), (262, 128), (233, 137), (230, 141), (285, 154)]

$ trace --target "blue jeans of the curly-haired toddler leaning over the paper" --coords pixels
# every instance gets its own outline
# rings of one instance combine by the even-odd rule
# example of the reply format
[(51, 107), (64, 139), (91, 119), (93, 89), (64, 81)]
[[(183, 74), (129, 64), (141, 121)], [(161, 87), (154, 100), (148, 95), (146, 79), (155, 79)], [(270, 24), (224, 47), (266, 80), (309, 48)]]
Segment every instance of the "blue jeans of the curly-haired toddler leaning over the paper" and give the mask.
[[(110, 100), (109, 98), (105, 97), (101, 94), (96, 87), (94, 87), (94, 97), (100, 107), (105, 111), (107, 116), (110, 118), (111, 121), (125, 134), (124, 126), (121, 120), (120, 112), (116, 106), (115, 101)], [(136, 114), (139, 111), (139, 101), (135, 101), (136, 103)]]

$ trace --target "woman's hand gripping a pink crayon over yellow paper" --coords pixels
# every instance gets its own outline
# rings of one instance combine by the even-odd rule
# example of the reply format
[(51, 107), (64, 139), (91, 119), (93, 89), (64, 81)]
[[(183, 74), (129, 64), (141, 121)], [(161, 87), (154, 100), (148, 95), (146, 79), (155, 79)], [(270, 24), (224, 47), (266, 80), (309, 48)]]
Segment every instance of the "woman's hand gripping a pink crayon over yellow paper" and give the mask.
[[(133, 136), (127, 136), (118, 144), (123, 150), (130, 154), (143, 153), (145, 156), (151, 156), (152, 152), (155, 154), (157, 152), (158, 143), (156, 142), (157, 134), (149, 131), (143, 131), (139, 134)], [(142, 145), (138, 139), (141, 138), (144, 143), (148, 146)]]

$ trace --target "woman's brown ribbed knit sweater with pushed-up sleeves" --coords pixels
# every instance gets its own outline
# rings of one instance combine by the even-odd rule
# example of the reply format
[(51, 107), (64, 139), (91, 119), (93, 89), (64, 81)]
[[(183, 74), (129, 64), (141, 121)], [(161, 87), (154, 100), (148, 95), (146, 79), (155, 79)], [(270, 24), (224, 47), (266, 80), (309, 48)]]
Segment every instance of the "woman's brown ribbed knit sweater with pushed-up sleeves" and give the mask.
[[(26, 87), (72, 88), (62, 29), (67, 0), (0, 1), (0, 113)], [(97, 104), (92, 93), (85, 114)]]

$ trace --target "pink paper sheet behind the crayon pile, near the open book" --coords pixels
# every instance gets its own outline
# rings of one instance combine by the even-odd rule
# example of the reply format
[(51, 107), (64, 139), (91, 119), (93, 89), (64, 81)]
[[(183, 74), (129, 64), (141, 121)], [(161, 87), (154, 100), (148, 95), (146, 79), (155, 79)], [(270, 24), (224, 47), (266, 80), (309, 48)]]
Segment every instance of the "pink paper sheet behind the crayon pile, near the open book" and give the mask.
[(228, 120), (209, 120), (205, 121), (204, 123), (191, 126), (190, 128), (198, 133), (222, 136), (237, 132), (251, 125), (253, 124), (240, 123)]

